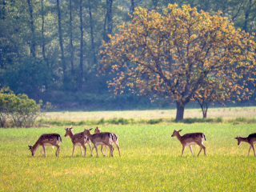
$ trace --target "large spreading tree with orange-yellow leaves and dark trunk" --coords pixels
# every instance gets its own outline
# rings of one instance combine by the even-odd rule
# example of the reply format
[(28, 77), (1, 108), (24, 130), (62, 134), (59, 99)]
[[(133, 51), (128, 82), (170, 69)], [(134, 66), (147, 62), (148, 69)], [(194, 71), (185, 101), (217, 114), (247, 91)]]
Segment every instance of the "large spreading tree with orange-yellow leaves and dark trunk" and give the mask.
[(119, 34), (102, 43), (105, 56), (99, 71), (114, 73), (108, 82), (114, 94), (128, 86), (140, 94), (174, 100), (180, 121), (209, 75), (225, 82), (214, 86), (229, 85), (233, 92), (241, 83), (254, 81), (254, 36), (236, 30), (221, 14), (171, 4), (162, 14), (136, 9), (132, 22), (118, 26)]

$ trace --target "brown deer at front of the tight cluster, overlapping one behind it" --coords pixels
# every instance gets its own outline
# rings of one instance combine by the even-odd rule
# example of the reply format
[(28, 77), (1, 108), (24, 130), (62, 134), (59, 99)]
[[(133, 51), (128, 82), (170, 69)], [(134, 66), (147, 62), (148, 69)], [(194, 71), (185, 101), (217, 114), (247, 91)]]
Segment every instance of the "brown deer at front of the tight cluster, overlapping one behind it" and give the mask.
[[(92, 130), (92, 129), (90, 129)], [(104, 133), (98, 133), (98, 134), (90, 134), (90, 130), (85, 129), (84, 130), (84, 135), (90, 139), (90, 141), (94, 144), (94, 147), (96, 149), (97, 157), (98, 157), (98, 145), (105, 145), (110, 147), (110, 156), (113, 157), (113, 134), (110, 132), (104, 132)], [(94, 148), (93, 147), (93, 148)], [(90, 153), (92, 156), (92, 151)]]

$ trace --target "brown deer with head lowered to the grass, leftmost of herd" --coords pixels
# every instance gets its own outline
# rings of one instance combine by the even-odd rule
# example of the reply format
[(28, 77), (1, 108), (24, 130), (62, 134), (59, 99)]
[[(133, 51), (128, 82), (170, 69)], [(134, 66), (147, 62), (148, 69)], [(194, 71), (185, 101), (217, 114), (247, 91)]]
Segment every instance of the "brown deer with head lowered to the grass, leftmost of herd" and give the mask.
[[(34, 146), (29, 146), (30, 151), (32, 155), (34, 156), (35, 152), (38, 149), (38, 146), (42, 146), (42, 150), (45, 152), (46, 156), (46, 146), (56, 146), (56, 156), (58, 156), (60, 148), (59, 148), (59, 143), (62, 142), (62, 137), (59, 134), (42, 134), (40, 138), (38, 138), (38, 141), (35, 142)], [(41, 151), (42, 155), (42, 151)]]

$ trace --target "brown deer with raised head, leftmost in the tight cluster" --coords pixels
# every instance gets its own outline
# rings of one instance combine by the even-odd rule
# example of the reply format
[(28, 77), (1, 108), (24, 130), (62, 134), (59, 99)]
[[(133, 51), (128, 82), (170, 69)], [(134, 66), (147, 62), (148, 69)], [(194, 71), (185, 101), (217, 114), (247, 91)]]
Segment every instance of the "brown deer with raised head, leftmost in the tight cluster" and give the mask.
[[(90, 146), (90, 140), (89, 138), (85, 137), (83, 132), (79, 132), (76, 134), (73, 134), (73, 128), (66, 128), (66, 134), (65, 137), (70, 136), (71, 141), (73, 142), (73, 153), (72, 156), (74, 155), (74, 149), (76, 146), (80, 146), (81, 154), (82, 154), (82, 147), (85, 150), (85, 156), (86, 156), (86, 143), (88, 146)], [(91, 146), (90, 146), (90, 151), (91, 151)], [(82, 155), (83, 156), (83, 155)]]

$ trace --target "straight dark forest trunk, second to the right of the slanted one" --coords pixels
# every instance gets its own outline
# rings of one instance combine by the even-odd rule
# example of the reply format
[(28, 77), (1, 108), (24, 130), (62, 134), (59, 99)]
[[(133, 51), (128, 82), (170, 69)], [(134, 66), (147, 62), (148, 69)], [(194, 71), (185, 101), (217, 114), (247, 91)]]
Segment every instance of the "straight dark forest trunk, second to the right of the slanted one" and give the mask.
[(82, 29), (82, 0), (80, 0), (80, 32), (81, 32), (81, 37), (80, 37), (80, 71), (79, 71), (79, 88), (82, 89), (82, 81), (83, 81), (83, 67), (82, 67), (82, 62), (83, 62), (83, 29)]

